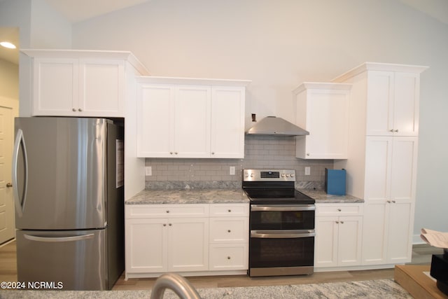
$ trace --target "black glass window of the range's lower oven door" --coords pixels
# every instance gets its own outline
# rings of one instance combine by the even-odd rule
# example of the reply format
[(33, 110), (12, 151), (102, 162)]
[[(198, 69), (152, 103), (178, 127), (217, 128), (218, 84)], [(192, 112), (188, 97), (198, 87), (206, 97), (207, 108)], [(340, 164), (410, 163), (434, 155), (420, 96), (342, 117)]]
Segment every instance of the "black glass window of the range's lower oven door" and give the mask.
[(269, 239), (251, 237), (250, 267), (314, 265), (314, 237)]

